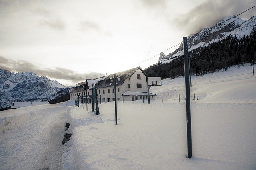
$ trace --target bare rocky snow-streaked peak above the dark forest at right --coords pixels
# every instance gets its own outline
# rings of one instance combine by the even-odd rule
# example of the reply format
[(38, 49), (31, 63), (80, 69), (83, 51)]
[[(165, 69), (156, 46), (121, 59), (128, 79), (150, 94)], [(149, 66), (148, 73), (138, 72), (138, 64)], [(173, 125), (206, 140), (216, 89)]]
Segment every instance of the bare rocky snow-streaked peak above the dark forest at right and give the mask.
[[(241, 39), (243, 36), (250, 35), (255, 28), (256, 16), (252, 16), (248, 20), (242, 20), (238, 16), (230, 16), (219, 21), (213, 27), (204, 28), (198, 33), (188, 36), (188, 51), (198, 47), (206, 47), (230, 35)], [(159, 62), (162, 64), (169, 63), (179, 55), (183, 55), (183, 43), (169, 55), (164, 55), (161, 52)]]

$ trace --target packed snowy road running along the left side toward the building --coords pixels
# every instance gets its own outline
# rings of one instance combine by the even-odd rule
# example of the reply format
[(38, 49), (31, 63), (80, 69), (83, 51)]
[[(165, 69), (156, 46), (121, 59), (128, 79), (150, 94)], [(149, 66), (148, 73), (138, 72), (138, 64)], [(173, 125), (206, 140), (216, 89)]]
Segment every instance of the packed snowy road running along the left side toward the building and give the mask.
[(0, 169), (62, 168), (66, 107), (42, 111), (35, 121), (0, 134)]

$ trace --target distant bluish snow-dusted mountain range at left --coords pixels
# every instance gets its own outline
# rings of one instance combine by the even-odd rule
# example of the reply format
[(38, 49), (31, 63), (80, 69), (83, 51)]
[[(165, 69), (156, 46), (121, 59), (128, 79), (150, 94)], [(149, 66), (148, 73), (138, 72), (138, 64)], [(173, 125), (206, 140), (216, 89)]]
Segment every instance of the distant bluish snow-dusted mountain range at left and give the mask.
[(0, 69), (0, 107), (10, 107), (11, 102), (46, 101), (65, 86), (47, 77), (39, 77), (34, 72), (13, 72)]

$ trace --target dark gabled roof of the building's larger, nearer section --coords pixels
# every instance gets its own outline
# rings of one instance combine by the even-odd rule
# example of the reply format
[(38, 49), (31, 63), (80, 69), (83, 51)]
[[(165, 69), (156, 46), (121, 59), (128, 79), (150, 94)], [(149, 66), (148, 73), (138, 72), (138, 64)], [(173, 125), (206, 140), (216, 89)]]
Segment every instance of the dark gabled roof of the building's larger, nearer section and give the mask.
[[(116, 74), (116, 78), (120, 78), (120, 80), (116, 80), (116, 85), (120, 86), (124, 83), (124, 81), (129, 78), (130, 76), (132, 76), (132, 74), (134, 74), (138, 69), (140, 69), (142, 71), (143, 74), (146, 75), (146, 73), (140, 68), (140, 66), (136, 67), (136, 68), (132, 68), (130, 70), (126, 70), (126, 71), (122, 71), (122, 72), (118, 72), (118, 73), (114, 73), (114, 74), (110, 74), (109, 76), (107, 76), (103, 82), (101, 82), (100, 84), (98, 84), (97, 88), (106, 88), (106, 87), (112, 87), (114, 86), (114, 80), (113, 82), (111, 82), (111, 79), (114, 79), (114, 75)], [(105, 84), (105, 81), (107, 81), (107, 83)]]

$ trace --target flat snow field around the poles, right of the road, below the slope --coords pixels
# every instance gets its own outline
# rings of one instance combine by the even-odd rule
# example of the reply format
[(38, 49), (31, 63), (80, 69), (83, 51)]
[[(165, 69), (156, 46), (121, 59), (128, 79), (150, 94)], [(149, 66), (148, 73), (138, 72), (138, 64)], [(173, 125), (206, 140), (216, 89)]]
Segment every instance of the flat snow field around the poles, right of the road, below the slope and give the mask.
[[(100, 104), (100, 115), (68, 107), (64, 169), (255, 169), (255, 104), (193, 103), (192, 159), (185, 102)], [(90, 108), (88, 106), (88, 108)]]

